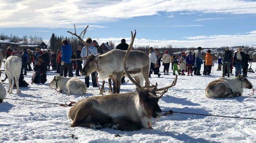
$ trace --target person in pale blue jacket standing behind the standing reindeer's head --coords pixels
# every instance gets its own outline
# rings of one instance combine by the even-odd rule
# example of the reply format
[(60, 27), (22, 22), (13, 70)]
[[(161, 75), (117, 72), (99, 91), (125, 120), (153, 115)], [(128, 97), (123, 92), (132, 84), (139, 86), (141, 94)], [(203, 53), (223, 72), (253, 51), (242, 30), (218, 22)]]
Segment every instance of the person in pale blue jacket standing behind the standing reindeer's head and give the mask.
[[(91, 42), (92, 42), (91, 38), (88, 37), (86, 39), (86, 44), (88, 45), (88, 52), (89, 52), (88, 55), (90, 55), (90, 54), (96, 55), (96, 54), (98, 54), (98, 50), (96, 47), (93, 46), (93, 44)], [(81, 51), (81, 57), (85, 57), (86, 54), (87, 54), (86, 47), (83, 47), (83, 49)], [(83, 62), (85, 65), (86, 59)], [(96, 75), (95, 72), (91, 73), (92, 86), (98, 87), (95, 75)], [(90, 76), (85, 77), (85, 84), (86, 84), (87, 88), (89, 88), (89, 86), (90, 86), (89, 80), (90, 80)]]

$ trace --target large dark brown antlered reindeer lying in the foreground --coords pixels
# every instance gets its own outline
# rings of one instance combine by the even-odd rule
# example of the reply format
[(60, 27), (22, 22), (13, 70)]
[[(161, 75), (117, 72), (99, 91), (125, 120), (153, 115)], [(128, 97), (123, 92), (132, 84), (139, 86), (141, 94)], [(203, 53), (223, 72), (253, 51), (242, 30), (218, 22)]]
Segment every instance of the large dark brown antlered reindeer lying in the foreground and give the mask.
[[(121, 131), (152, 129), (153, 118), (162, 116), (158, 100), (168, 88), (176, 85), (177, 75), (173, 83), (165, 88), (157, 89), (157, 83), (154, 86), (141, 87), (126, 68), (126, 59), (135, 35), (136, 31), (134, 36), (132, 34), (132, 41), (123, 60), (123, 68), (128, 78), (136, 85), (136, 91), (89, 97), (78, 101), (68, 112), (68, 118), (73, 120), (71, 127), (113, 128)], [(156, 93), (161, 95), (156, 96)]]

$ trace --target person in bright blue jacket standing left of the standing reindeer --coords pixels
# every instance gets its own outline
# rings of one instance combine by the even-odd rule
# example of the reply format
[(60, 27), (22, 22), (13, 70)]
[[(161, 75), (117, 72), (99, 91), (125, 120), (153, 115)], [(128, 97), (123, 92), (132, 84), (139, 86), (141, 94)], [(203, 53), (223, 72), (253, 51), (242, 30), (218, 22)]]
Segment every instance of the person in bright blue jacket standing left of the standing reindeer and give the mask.
[(67, 66), (67, 70), (70, 74), (70, 77), (73, 77), (73, 71), (72, 71), (72, 62), (70, 61), (72, 56), (72, 48), (71, 45), (68, 44), (67, 39), (62, 40), (62, 57), (61, 57), (61, 70), (60, 70), (60, 76), (63, 76), (64, 69)]

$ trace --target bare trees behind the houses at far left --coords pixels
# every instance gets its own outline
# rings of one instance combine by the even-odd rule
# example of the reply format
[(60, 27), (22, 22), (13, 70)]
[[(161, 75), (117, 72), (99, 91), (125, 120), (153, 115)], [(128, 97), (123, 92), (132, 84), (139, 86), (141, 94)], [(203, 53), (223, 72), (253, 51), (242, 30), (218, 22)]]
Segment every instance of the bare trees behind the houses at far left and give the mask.
[(40, 42), (42, 42), (43, 41), (43, 38), (42, 37), (38, 37), (38, 36), (27, 36), (27, 35), (24, 35), (24, 36), (22, 36), (22, 38), (21, 37), (19, 37), (19, 36), (15, 36), (15, 35), (13, 35), (13, 34), (10, 34), (10, 36), (8, 36), (8, 35), (6, 35), (6, 34), (4, 34), (4, 33), (1, 33), (0, 34), (0, 39), (1, 40), (12, 40), (13, 41), (13, 43), (17, 43), (18, 41), (25, 41), (25, 42), (27, 42), (27, 41), (34, 41), (34, 42), (36, 42), (36, 43), (40, 43)]

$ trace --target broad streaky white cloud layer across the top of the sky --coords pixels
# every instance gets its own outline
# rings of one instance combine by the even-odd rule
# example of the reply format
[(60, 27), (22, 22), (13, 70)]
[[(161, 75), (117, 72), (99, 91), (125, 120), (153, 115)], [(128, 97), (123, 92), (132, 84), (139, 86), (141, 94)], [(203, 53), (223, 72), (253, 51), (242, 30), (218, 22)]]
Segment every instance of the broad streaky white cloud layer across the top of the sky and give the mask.
[[(8, 10), (6, 10), (8, 7)], [(1, 0), (0, 27), (68, 28), (76, 24), (93, 24), (158, 12), (256, 13), (256, 1), (247, 0)], [(188, 11), (188, 12), (183, 12)], [(3, 22), (4, 21), (4, 22)]]

